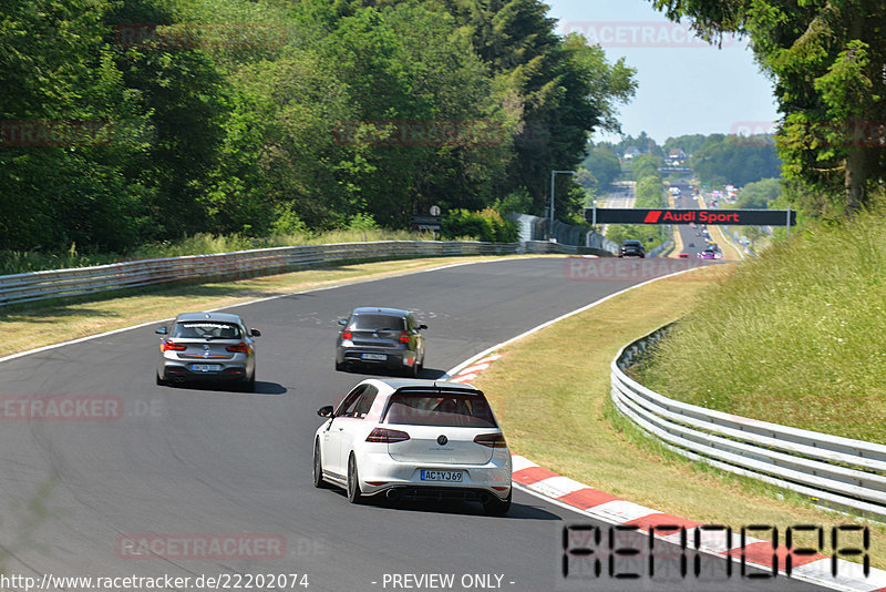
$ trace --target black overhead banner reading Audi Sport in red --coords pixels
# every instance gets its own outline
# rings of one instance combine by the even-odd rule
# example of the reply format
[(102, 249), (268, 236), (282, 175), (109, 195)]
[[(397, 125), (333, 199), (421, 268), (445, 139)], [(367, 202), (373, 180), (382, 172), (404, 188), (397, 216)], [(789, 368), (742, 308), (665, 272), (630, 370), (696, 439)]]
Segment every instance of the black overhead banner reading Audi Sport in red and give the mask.
[[(787, 210), (648, 210), (642, 207), (598, 207), (597, 224), (730, 224), (735, 226), (784, 226)], [(585, 210), (594, 222), (594, 210)], [(791, 211), (791, 226), (796, 212)]]

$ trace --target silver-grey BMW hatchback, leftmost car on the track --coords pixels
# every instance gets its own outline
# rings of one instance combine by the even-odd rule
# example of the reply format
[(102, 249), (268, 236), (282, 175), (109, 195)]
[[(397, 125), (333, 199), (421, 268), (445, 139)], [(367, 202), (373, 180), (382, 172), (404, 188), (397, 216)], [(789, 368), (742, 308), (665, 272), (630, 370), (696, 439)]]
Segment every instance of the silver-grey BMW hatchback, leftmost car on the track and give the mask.
[(237, 315), (224, 313), (186, 313), (178, 315), (171, 327), (155, 331), (162, 335), (157, 359), (157, 385), (188, 380), (233, 382), (253, 391), (256, 385), (256, 349), (258, 329), (247, 329)]

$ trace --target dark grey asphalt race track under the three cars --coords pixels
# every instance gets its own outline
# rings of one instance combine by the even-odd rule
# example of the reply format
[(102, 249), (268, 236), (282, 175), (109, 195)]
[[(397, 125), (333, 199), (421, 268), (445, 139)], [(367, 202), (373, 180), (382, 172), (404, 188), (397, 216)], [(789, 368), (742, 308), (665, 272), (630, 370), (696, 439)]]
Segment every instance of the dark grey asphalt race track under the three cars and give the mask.
[[(312, 487), (312, 438), (322, 422), (316, 410), (363, 377), (333, 370), (339, 318), (356, 306), (413, 309), (430, 327), (423, 377), (433, 378), (646, 279), (575, 280), (557, 258), (460, 265), (229, 309), (262, 330), (256, 394), (156, 386), (154, 326), (1, 363), (0, 400), (74, 397), (105, 407), (104, 416), (86, 420), (16, 420), (7, 412), (0, 421), (0, 543), (11, 554), (0, 569), (192, 582), (225, 573), (307, 574), (307, 590), (346, 592), (816, 589), (784, 576), (743, 579), (738, 565), (725, 578), (723, 560), (711, 558), (702, 563), (705, 581), (616, 579), (606, 561), (600, 578), (566, 580), (564, 527), (608, 527), (524, 491), (515, 492), (509, 516), (490, 518), (470, 503), (351, 506), (339, 490)], [(586, 339), (594, 336), (564, 347)], [(148, 537), (178, 544), (175, 557), (133, 550), (132, 540)], [(247, 544), (195, 559), (175, 542), (226, 537)], [(268, 557), (274, 552), (261, 541), (280, 557)], [(663, 553), (667, 545), (656, 548)], [(453, 586), (404, 578), (436, 573), (454, 574)], [(290, 583), (274, 589), (306, 590)]]

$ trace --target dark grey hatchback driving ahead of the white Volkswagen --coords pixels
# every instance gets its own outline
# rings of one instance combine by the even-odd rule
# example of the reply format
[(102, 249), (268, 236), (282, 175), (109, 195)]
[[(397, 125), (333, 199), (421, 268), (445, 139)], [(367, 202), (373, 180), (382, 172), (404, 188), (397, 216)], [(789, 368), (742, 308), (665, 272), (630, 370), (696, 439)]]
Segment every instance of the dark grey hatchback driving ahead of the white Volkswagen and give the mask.
[(427, 325), (415, 321), (412, 313), (399, 308), (361, 307), (339, 320), (336, 340), (336, 369), (383, 368), (419, 376), (424, 366), (424, 336)]

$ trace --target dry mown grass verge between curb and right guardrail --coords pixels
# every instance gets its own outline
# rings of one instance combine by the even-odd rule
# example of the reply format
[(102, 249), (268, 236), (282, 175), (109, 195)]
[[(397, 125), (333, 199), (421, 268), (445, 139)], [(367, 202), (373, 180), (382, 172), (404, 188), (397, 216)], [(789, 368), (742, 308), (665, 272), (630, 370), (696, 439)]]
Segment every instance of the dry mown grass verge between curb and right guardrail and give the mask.
[[(688, 461), (614, 409), (609, 363), (618, 349), (709, 300), (730, 268), (705, 267), (636, 288), (499, 350), (502, 359), (475, 384), (492, 399), (512, 449), (590, 487), (705, 524), (736, 531), (771, 524), (784, 532), (852, 522), (791, 492)], [(580, 348), (564, 347), (576, 335), (589, 337)], [(872, 564), (886, 568), (886, 531), (872, 528), (870, 534)], [(794, 547), (814, 543), (801, 537)]]

